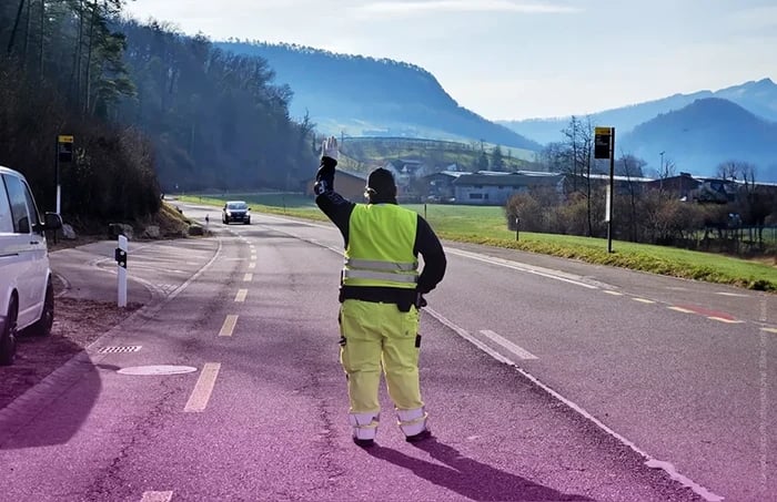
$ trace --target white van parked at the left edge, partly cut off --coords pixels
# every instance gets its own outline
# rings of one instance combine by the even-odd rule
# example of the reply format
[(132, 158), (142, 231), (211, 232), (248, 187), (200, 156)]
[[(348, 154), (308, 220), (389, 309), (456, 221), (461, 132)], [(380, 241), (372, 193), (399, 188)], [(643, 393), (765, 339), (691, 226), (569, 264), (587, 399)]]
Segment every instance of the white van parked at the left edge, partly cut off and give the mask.
[(0, 166), (0, 365), (11, 365), (22, 329), (48, 336), (54, 320), (46, 230), (62, 226), (58, 214), (41, 222), (21, 173)]

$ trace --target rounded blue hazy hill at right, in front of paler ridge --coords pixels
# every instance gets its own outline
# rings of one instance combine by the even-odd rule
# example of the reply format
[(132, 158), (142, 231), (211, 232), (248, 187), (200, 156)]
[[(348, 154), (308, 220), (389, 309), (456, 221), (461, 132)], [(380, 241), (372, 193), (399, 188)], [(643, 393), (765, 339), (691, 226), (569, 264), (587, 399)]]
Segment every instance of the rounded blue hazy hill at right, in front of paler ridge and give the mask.
[(658, 115), (623, 135), (620, 147), (650, 164), (660, 152), (678, 171), (714, 175), (726, 161), (756, 165), (760, 181), (777, 182), (777, 123), (723, 99), (707, 98)]

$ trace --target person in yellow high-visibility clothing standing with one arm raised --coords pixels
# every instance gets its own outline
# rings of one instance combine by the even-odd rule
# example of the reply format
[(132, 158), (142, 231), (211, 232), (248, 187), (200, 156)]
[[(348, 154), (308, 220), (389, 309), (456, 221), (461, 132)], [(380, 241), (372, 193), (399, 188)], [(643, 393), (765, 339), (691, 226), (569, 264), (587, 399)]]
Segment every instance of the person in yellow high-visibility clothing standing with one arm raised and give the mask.
[[(443, 246), (424, 218), (397, 205), (391, 171), (370, 173), (369, 203), (354, 204), (334, 191), (337, 140), (324, 140), (321, 153), (315, 203), (345, 242), (340, 362), (347, 378), (353, 441), (360, 447), (374, 443), (381, 370), (405, 439), (426, 439), (431, 430), (418, 381), (418, 319), (426, 305), (423, 295), (445, 275)], [(418, 254), (424, 259), (421, 273)]]

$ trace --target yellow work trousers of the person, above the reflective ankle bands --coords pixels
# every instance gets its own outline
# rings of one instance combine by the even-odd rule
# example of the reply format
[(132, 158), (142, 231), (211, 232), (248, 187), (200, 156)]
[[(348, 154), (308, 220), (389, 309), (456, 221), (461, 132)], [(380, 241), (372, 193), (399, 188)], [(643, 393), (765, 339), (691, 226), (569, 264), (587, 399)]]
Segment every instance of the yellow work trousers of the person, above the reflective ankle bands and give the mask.
[(340, 362), (349, 382), (351, 413), (380, 411), (381, 369), (398, 410), (424, 406), (418, 382), (418, 310), (349, 299), (340, 308)]

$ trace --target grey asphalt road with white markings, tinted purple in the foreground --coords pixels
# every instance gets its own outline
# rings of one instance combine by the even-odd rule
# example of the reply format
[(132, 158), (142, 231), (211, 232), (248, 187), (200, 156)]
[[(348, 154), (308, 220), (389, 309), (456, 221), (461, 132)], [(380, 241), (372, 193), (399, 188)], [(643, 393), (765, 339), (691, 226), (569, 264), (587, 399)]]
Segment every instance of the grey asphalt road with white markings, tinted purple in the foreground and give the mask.
[(405, 443), (384, 395), (362, 450), (336, 362), (340, 234), (183, 208), (215, 237), (131, 257), (165, 299), (14, 410), (0, 499), (777, 496), (773, 296), (445, 243), (422, 320), (436, 439)]

